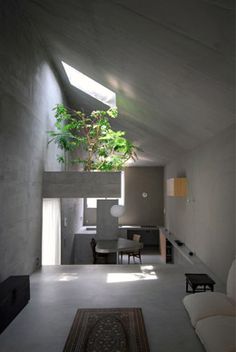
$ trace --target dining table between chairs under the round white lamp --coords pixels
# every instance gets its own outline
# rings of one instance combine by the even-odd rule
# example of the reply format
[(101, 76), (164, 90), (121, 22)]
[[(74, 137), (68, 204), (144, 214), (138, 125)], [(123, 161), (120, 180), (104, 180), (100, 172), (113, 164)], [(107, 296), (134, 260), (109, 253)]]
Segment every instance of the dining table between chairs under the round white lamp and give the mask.
[(95, 250), (97, 253), (109, 254), (116, 253), (116, 264), (119, 262), (120, 252), (135, 252), (143, 248), (143, 243), (133, 240), (127, 240), (123, 237), (118, 237), (116, 239), (99, 239)]

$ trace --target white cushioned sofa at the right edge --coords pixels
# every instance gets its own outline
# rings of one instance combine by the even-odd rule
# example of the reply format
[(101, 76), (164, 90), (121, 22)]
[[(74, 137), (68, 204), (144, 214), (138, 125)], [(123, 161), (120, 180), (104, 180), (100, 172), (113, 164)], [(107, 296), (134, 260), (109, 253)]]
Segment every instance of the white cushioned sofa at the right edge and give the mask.
[(183, 304), (207, 352), (236, 352), (236, 259), (227, 278), (226, 294), (201, 292)]

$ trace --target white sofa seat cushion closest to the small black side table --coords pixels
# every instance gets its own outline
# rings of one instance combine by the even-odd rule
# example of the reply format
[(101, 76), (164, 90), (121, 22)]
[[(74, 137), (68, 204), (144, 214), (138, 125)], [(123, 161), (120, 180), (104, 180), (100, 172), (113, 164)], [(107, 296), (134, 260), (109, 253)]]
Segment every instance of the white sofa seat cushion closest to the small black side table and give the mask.
[(185, 296), (183, 304), (195, 327), (201, 319), (214, 315), (235, 315), (235, 306), (220, 292), (201, 292)]

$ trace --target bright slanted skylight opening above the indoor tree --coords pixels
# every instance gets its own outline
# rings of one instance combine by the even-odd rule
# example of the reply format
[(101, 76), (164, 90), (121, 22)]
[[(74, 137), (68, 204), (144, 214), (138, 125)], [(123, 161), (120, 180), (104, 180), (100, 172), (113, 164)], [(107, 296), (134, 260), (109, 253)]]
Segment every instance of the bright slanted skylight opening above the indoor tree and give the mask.
[(61, 63), (72, 86), (82, 90), (84, 93), (110, 107), (116, 106), (116, 94), (114, 92), (104, 87), (100, 83), (94, 81), (92, 78), (84, 75), (72, 66), (66, 64), (65, 62), (62, 61)]

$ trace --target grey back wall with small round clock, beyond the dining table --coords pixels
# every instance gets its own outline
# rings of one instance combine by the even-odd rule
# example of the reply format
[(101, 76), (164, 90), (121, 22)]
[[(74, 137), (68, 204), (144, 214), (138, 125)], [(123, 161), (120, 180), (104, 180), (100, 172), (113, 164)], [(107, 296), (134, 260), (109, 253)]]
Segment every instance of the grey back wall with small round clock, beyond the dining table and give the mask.
[(163, 225), (163, 167), (125, 169), (125, 214), (120, 223)]

